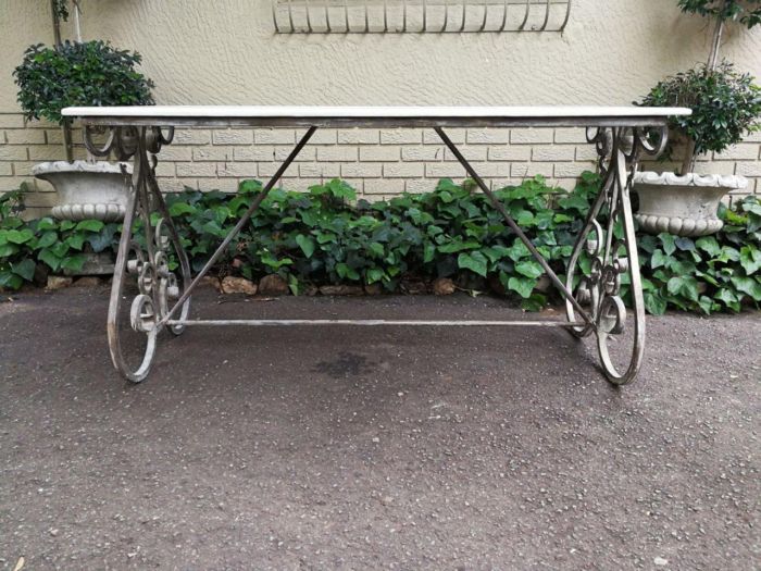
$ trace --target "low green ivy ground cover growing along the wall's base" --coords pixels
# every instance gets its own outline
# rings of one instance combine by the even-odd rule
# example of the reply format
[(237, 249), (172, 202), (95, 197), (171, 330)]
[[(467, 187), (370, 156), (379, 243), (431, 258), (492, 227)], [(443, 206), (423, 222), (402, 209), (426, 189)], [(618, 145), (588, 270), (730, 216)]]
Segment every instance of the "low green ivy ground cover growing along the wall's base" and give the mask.
[[(548, 187), (541, 177), (497, 191), (511, 215), (559, 274), (599, 191), (599, 177), (583, 175), (571, 193)], [(187, 190), (167, 195), (170, 212), (194, 270), (198, 271), (251, 204), (261, 184), (245, 182), (236, 195)], [(469, 289), (508, 293), (525, 309), (548, 301), (539, 264), (473, 185), (442, 179), (435, 191), (389, 201), (354, 202), (341, 181), (309, 193), (276, 189), (233, 240), (215, 268), (217, 275), (257, 280), (277, 273), (294, 293), (310, 285), (380, 284), (399, 290), (406, 281), (452, 277)], [(10, 204), (11, 199), (5, 204)], [(9, 207), (5, 208), (9, 210)], [(2, 210), (0, 210), (2, 212)], [(639, 252), (650, 313), (668, 308), (740, 311), (761, 302), (761, 202), (748, 198), (720, 212), (724, 229), (715, 237), (641, 236)], [(138, 224), (139, 225), (139, 224)], [(15, 289), (30, 281), (36, 264), (76, 270), (83, 252), (115, 251), (115, 224), (29, 223), (0, 220), (0, 286)], [(176, 261), (172, 261), (176, 266)], [(583, 271), (591, 260), (583, 255)], [(627, 284), (622, 288), (627, 295)]]

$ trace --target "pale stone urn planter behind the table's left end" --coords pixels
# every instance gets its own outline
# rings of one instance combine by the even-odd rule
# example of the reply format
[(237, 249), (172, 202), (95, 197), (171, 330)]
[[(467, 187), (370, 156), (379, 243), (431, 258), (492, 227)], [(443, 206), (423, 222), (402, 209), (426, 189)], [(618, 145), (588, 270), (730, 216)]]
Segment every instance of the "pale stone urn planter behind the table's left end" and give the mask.
[(58, 191), (59, 204), (52, 209), (57, 219), (121, 222), (127, 202), (122, 164), (132, 174), (126, 163), (103, 161), (43, 162), (32, 172)]

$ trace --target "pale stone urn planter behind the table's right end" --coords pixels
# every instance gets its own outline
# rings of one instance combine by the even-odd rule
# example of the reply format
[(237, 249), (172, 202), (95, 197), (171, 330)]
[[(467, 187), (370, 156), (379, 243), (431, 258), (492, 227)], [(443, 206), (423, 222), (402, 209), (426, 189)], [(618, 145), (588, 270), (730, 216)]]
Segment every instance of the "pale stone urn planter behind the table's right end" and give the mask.
[(738, 175), (635, 173), (634, 190), (639, 196), (635, 218), (648, 234), (707, 236), (724, 226), (716, 215), (721, 199), (747, 187), (748, 179)]

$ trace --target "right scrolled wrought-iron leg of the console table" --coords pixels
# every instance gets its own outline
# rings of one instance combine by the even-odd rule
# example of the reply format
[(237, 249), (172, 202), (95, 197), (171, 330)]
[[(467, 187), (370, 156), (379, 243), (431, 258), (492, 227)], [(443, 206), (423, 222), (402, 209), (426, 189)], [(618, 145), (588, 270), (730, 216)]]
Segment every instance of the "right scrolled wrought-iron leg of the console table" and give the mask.
[[(597, 336), (602, 368), (615, 384), (632, 382), (639, 371), (645, 347), (645, 301), (639, 276), (639, 259), (632, 215), (631, 189), (634, 173), (643, 153), (658, 156), (665, 148), (668, 128), (633, 127), (588, 128), (587, 140), (599, 156), (602, 188), (589, 210), (569, 261), (566, 289), (589, 311), (594, 324), (571, 331), (585, 337)], [(588, 275), (577, 277), (583, 252), (591, 258)], [(619, 370), (611, 358), (611, 343), (624, 333), (626, 307), (622, 298), (622, 278), (628, 276), (631, 305), (634, 312), (634, 340), (626, 370)], [(566, 301), (570, 321), (576, 320), (574, 305)]]

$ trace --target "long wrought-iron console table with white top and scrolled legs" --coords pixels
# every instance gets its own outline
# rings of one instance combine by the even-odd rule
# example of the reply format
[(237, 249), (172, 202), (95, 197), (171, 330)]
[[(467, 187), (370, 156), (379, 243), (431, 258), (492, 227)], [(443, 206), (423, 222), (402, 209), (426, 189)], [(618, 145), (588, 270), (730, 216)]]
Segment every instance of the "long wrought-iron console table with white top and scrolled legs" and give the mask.
[[(68, 108), (63, 115), (79, 119), (85, 127), (85, 145), (97, 157), (115, 152), (118, 160), (134, 160), (128, 184), (116, 266), (111, 289), (108, 336), (114, 367), (132, 382), (145, 380), (153, 364), (157, 338), (163, 330), (175, 335), (191, 325), (460, 325), (475, 327), (508, 325), (550, 325), (570, 330), (578, 337), (597, 337), (602, 369), (615, 384), (632, 382), (639, 371), (645, 347), (645, 307), (629, 193), (632, 178), (643, 153), (658, 154), (666, 144), (670, 115), (689, 114), (681, 108), (604, 107), (135, 107)], [(275, 175), (257, 195), (229, 235), (194, 278), (177, 231), (155, 177), (157, 154), (172, 142), (175, 127), (305, 127)], [(586, 127), (587, 140), (595, 144), (603, 176), (602, 190), (589, 210), (569, 261), (565, 283), (552, 271), (541, 253), (510, 216), (504, 204), (447, 136), (447, 127)], [(228, 245), (248, 223), (262, 200), (277, 184), (314, 132), (321, 127), (415, 127), (433, 128), (464, 166), (512, 232), (528, 248), (552, 284), (565, 299), (565, 321), (386, 321), (386, 320), (191, 320), (190, 295)], [(108, 140), (93, 142), (93, 133), (107, 128)], [(159, 222), (153, 223), (152, 213)], [(135, 221), (141, 220), (141, 235)], [(602, 222), (601, 222), (602, 221)], [(620, 225), (623, 233), (616, 236)], [(179, 277), (169, 268), (170, 248), (179, 262)], [(592, 258), (589, 275), (575, 278), (582, 251)], [(129, 312), (135, 332), (145, 334), (145, 351), (137, 368), (124, 359), (120, 332), (121, 310), (127, 275), (135, 275), (139, 294)], [(581, 274), (581, 272), (579, 272)], [(616, 367), (609, 343), (626, 327), (626, 308), (621, 298), (622, 277), (628, 277), (634, 312), (634, 337), (626, 364)], [(574, 284), (576, 284), (574, 286)]]

